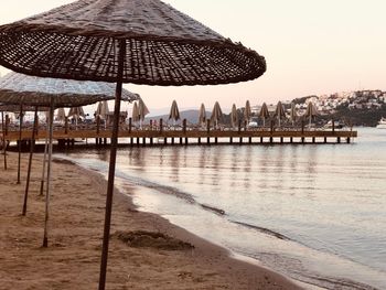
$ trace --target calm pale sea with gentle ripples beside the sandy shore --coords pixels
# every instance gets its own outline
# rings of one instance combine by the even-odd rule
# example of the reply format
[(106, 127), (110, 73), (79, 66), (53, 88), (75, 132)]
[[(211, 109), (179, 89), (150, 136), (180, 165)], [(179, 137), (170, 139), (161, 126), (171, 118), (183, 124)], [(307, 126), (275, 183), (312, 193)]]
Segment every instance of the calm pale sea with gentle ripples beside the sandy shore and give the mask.
[[(351, 144), (121, 148), (116, 184), (140, 210), (296, 280), (386, 289), (386, 130), (357, 130)], [(107, 172), (108, 150), (64, 157)]]

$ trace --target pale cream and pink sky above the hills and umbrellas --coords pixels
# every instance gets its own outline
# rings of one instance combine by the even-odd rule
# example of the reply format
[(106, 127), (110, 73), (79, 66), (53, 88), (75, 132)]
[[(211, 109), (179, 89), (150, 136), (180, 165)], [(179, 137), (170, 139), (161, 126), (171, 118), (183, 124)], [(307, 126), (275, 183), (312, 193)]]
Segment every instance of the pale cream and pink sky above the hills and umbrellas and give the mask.
[[(72, 0), (1, 0), (0, 24)], [(276, 104), (307, 95), (386, 90), (385, 0), (165, 0), (267, 61), (258, 79), (234, 85), (148, 87), (125, 85), (149, 108)], [(3, 75), (7, 71), (0, 67)]]

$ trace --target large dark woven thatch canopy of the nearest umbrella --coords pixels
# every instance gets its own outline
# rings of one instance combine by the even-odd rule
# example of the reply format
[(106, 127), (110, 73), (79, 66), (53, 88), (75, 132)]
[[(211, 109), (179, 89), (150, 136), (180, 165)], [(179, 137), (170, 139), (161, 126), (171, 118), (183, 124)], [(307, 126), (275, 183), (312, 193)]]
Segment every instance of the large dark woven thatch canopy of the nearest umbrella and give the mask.
[(49, 77), (213, 85), (249, 80), (265, 58), (159, 0), (79, 0), (0, 26), (0, 65)]

